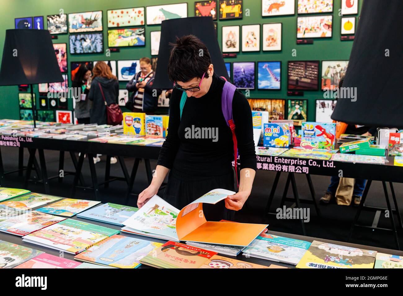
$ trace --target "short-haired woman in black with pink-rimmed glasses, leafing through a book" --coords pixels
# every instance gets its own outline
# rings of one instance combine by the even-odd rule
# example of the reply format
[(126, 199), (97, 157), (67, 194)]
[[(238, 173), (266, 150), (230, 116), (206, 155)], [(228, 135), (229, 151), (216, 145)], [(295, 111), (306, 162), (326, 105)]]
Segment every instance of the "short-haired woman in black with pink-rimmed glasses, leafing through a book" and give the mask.
[[(183, 36), (172, 45), (168, 75), (174, 81), (174, 88), (170, 99), (169, 133), (152, 182), (139, 195), (138, 207), (158, 192), (169, 170), (164, 199), (179, 209), (212, 189), (234, 190), (231, 164), (234, 143), (221, 106), (225, 81), (214, 73), (210, 53), (197, 37)], [(241, 162), (239, 191), (220, 205), (203, 206), (210, 221), (233, 220), (234, 210), (241, 209), (249, 197), (255, 177), (251, 108), (238, 90), (233, 96), (232, 112)], [(201, 135), (203, 130), (210, 133)], [(204, 137), (206, 135), (208, 137)]]

